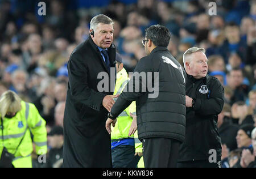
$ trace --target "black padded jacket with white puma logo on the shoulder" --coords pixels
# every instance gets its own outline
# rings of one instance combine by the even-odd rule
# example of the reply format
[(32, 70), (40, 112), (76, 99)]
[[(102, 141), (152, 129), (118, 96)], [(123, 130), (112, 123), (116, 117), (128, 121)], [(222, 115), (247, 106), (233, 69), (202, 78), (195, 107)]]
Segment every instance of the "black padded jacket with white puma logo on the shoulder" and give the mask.
[[(160, 46), (138, 62), (134, 74), (143, 72), (152, 72), (152, 80), (138, 80), (133, 76), (113, 105), (112, 115), (117, 117), (132, 101), (136, 101), (140, 140), (159, 137), (182, 142), (185, 137), (185, 72), (168, 49)], [(155, 84), (157, 77), (159, 84)], [(148, 87), (148, 81), (155, 84), (158, 96), (151, 96), (154, 92), (148, 88), (143, 92), (143, 87)], [(140, 89), (135, 86), (136, 82), (139, 82)], [(138, 92), (128, 91), (135, 87)]]

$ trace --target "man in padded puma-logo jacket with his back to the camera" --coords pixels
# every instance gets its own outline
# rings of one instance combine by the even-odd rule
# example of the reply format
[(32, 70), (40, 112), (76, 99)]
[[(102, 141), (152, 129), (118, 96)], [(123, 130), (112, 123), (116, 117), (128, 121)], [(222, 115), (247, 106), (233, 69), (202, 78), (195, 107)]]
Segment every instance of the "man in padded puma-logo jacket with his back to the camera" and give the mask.
[[(138, 62), (106, 121), (106, 130), (111, 133), (111, 123), (114, 126), (115, 118), (136, 101), (138, 136), (146, 168), (176, 167), (185, 135), (185, 72), (167, 49), (170, 38), (170, 31), (162, 25), (146, 29), (143, 45), (147, 56)], [(138, 78), (138, 73), (146, 73), (147, 80)], [(152, 79), (148, 73), (154, 75)], [(148, 88), (151, 82), (158, 88), (156, 96), (151, 96), (153, 92)]]

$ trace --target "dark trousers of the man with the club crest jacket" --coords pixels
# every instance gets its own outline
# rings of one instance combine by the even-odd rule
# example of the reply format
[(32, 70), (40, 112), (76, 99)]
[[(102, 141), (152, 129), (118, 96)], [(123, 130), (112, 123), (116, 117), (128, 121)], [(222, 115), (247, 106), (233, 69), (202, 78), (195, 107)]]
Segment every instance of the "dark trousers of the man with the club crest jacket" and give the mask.
[(208, 160), (183, 161), (177, 163), (177, 168), (221, 168), (221, 159), (217, 163), (209, 163)]

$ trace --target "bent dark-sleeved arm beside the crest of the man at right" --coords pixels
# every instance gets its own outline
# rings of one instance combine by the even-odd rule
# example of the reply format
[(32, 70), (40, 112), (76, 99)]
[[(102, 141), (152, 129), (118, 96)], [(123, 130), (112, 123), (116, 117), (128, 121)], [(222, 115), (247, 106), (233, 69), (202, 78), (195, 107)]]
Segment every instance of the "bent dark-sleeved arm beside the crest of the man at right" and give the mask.
[(209, 99), (196, 99), (193, 110), (202, 116), (220, 114), (224, 105), (224, 87), (217, 78), (212, 79)]

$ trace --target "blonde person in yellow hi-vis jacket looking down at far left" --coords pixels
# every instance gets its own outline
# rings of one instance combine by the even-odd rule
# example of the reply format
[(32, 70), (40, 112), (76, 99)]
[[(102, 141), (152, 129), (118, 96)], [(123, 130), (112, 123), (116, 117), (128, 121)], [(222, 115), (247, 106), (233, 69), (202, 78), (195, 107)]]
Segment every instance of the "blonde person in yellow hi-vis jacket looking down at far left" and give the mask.
[[(34, 104), (25, 103), (10, 90), (0, 97), (0, 118), (0, 167), (31, 168), (33, 148), (30, 132), (34, 136), (36, 154), (46, 154), (46, 121)], [(40, 161), (46, 162), (42, 157)]]

